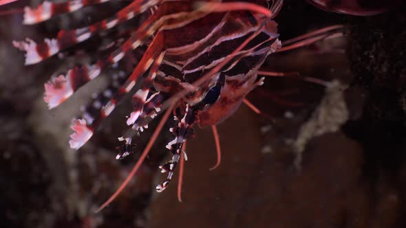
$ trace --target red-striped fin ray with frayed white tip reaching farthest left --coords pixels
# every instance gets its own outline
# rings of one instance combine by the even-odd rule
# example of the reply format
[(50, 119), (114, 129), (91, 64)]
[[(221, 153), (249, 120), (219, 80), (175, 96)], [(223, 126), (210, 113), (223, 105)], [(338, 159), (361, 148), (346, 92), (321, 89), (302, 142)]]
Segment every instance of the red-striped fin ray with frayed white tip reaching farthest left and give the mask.
[[(36, 64), (46, 58), (54, 56), (67, 47), (86, 41), (97, 32), (109, 30), (119, 23), (133, 19), (134, 16), (145, 12), (145, 10), (160, 1), (162, 0), (136, 0), (108, 19), (76, 30), (61, 30), (58, 32), (56, 38), (45, 38), (43, 43), (35, 43), (30, 38), (27, 38), (25, 41), (13, 41), (13, 45), (26, 53), (25, 65)], [(153, 19), (154, 18), (151, 17), (146, 22), (150, 24)]]

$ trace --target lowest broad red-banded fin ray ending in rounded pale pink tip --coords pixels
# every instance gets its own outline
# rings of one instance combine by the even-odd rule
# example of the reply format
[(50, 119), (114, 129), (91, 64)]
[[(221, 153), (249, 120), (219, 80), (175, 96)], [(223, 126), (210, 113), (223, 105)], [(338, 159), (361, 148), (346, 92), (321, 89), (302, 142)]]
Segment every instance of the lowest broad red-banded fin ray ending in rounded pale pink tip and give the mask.
[(133, 89), (138, 78), (142, 76), (149, 67), (151, 67), (153, 61), (162, 54), (162, 39), (162, 34), (158, 33), (125, 84), (123, 84), (109, 102), (100, 109), (100, 117), (98, 119), (96, 119), (90, 126), (87, 126), (83, 119), (78, 119), (72, 124), (72, 129), (75, 131), (75, 133), (72, 133), (70, 140), (70, 147), (72, 149), (77, 150), (78, 148), (81, 148), (81, 146), (92, 137), (94, 130), (98, 127), (100, 122), (111, 114), (116, 108), (116, 104), (120, 102), (125, 94)]

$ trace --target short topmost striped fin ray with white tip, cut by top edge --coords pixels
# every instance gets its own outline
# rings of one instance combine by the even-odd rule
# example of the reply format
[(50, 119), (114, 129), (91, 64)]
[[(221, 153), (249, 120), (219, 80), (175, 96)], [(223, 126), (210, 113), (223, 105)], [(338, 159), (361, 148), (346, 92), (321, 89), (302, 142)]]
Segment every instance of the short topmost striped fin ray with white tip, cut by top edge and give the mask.
[(74, 12), (86, 6), (105, 3), (107, 1), (110, 0), (68, 0), (63, 3), (53, 3), (45, 0), (36, 8), (30, 8), (28, 6), (24, 8), (23, 24), (32, 25), (40, 23), (58, 14)]

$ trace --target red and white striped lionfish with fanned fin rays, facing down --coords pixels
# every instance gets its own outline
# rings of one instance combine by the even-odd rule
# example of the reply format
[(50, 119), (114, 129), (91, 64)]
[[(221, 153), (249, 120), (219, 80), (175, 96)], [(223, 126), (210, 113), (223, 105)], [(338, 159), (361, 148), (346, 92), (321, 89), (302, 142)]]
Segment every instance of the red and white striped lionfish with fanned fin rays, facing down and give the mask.
[[(106, 1), (44, 1), (37, 8), (25, 8), (23, 23), (41, 23), (58, 14)], [(261, 114), (245, 99), (246, 95), (263, 84), (264, 77), (259, 75), (285, 76), (284, 73), (260, 71), (266, 57), (328, 38), (342, 27), (336, 25), (317, 30), (286, 41), (282, 47), (277, 23), (273, 21), (282, 4), (283, 0), (133, 0), (114, 16), (75, 30), (61, 30), (56, 38), (45, 38), (42, 43), (31, 39), (14, 41), (14, 46), (26, 53), (25, 65), (32, 65), (135, 16), (147, 15), (147, 19), (140, 26), (133, 27), (131, 36), (114, 52), (93, 64), (72, 67), (45, 84), (44, 100), (53, 109), (87, 82), (100, 76), (102, 71), (129, 58), (133, 50), (147, 45), (132, 73), (124, 80), (112, 77), (109, 87), (85, 107), (82, 117), (72, 122), (74, 133), (70, 136), (70, 147), (78, 150), (92, 137), (100, 122), (114, 111), (120, 100), (131, 92), (136, 82), (143, 78), (141, 89), (132, 95), (133, 111), (127, 119), (131, 128), (118, 138), (122, 146), (118, 147), (116, 159), (122, 159), (133, 151), (133, 137), (148, 128), (151, 119), (166, 110), (127, 179), (99, 210), (127, 185), (171, 115), (176, 122), (169, 129), (174, 139), (167, 144), (172, 157), (160, 166), (161, 171), (167, 173), (167, 179), (156, 187), (156, 191), (162, 192), (168, 187), (178, 163), (181, 178), (182, 164), (186, 160), (186, 140), (193, 135), (195, 124), (213, 129), (217, 167), (220, 164), (220, 143), (215, 125), (232, 115), (243, 102)]]

